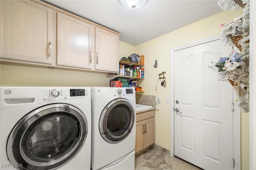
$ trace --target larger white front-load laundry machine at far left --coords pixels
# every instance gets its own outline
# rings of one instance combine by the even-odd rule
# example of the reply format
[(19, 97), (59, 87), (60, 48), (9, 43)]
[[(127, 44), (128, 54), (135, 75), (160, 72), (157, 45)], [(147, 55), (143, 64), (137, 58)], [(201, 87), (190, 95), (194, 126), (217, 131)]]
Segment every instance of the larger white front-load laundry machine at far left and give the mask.
[(90, 170), (90, 88), (0, 90), (1, 169)]

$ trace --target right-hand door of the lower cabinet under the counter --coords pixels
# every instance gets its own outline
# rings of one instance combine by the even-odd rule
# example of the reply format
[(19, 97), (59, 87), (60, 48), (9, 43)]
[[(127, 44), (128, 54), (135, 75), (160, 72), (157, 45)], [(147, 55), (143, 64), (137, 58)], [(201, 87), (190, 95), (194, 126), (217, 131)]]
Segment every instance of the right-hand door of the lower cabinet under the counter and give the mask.
[(155, 118), (144, 120), (144, 125), (144, 148), (146, 148), (155, 143)]

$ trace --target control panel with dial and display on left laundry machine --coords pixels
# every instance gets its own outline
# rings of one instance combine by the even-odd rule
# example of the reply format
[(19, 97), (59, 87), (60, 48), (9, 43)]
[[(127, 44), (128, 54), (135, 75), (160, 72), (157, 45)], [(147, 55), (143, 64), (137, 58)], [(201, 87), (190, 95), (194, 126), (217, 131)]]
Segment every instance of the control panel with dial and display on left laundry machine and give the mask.
[(84, 101), (90, 98), (90, 89), (87, 88), (38, 88), (38, 102), (51, 101)]

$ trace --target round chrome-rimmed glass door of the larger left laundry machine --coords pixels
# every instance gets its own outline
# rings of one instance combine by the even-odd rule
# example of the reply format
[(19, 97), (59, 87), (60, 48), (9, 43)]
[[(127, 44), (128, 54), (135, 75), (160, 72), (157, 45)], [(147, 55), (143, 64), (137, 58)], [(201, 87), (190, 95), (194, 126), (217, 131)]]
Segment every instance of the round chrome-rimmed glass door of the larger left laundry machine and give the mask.
[(29, 113), (14, 127), (7, 152), (20, 169), (48, 170), (64, 165), (81, 149), (88, 124), (78, 108), (52, 104)]

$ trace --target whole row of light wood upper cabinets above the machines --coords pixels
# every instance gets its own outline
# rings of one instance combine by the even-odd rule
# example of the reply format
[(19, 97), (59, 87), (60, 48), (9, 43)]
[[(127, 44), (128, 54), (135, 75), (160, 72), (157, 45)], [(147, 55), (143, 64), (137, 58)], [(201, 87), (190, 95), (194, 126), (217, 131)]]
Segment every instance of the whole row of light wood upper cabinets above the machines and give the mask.
[(1, 64), (118, 72), (119, 33), (38, 0), (0, 10)]

